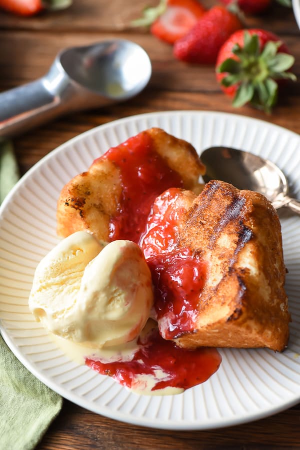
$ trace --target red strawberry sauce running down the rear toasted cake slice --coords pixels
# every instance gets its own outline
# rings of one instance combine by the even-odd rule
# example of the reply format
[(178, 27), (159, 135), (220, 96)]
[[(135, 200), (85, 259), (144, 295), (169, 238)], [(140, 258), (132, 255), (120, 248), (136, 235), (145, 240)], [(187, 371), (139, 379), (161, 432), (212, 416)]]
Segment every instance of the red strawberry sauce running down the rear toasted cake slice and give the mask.
[(179, 174), (152, 149), (152, 139), (142, 132), (104, 155), (120, 169), (122, 195), (118, 214), (110, 221), (109, 239), (138, 242), (157, 195), (170, 187), (182, 187)]

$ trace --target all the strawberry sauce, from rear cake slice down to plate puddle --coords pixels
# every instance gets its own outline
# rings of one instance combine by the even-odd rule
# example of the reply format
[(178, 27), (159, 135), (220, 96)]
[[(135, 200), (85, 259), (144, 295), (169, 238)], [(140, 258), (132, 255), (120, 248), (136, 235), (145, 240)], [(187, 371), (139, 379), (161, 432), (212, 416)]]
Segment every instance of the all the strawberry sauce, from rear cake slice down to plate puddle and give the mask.
[(86, 358), (85, 363), (137, 391), (142, 391), (143, 385), (151, 391), (195, 386), (217, 370), (221, 356), (215, 348), (185, 350), (171, 340), (194, 329), (206, 278), (206, 264), (200, 257), (178, 247), (183, 182), (153, 152), (147, 133), (109, 149), (104, 158), (119, 167), (122, 182), (122, 198), (118, 215), (110, 221), (109, 239), (129, 239), (143, 250), (151, 270), (158, 328), (155, 325), (142, 332), (129, 360), (116, 355), (114, 360)]

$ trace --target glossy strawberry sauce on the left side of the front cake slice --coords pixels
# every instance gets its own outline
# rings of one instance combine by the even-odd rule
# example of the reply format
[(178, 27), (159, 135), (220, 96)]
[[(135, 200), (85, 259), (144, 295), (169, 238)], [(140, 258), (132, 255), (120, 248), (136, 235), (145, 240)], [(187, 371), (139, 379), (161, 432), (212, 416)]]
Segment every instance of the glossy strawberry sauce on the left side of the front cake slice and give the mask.
[(140, 246), (151, 270), (154, 309), (164, 339), (193, 330), (206, 264), (188, 248), (178, 249), (176, 233), (183, 213), (180, 190), (168, 189), (156, 198)]

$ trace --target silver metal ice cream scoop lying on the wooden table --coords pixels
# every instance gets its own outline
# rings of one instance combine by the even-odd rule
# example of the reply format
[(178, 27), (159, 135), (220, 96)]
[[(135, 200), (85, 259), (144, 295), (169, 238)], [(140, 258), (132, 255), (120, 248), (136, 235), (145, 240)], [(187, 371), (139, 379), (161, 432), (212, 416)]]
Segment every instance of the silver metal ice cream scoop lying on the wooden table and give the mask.
[(148, 55), (130, 41), (62, 50), (44, 77), (0, 94), (0, 136), (13, 136), (66, 112), (127, 100), (150, 76)]

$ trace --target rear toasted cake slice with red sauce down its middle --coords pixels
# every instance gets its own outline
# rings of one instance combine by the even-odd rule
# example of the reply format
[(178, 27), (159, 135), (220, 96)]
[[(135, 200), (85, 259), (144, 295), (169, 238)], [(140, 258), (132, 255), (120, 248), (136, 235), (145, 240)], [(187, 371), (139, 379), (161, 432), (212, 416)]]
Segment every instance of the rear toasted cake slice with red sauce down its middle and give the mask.
[[(142, 160), (137, 159), (145, 148), (145, 159), (150, 159), (148, 166), (146, 160), (140, 162)], [(132, 164), (136, 165), (135, 171)], [(143, 166), (142, 170), (140, 166)], [(163, 166), (163, 174), (156, 176), (159, 166)], [(126, 198), (126, 195), (130, 197), (124, 182), (124, 171), (128, 167), (131, 167), (131, 175), (127, 174), (127, 184), (136, 183), (134, 195), (131, 196), (135, 198), (133, 206), (128, 202), (130, 199)], [(108, 150), (92, 163), (88, 171), (75, 176), (62, 188), (57, 203), (57, 234), (66, 237), (75, 231), (87, 230), (98, 239), (108, 241), (111, 227), (115, 226), (111, 225), (112, 218), (122, 215), (122, 222), (116, 226), (123, 230), (136, 229), (138, 238), (139, 227), (142, 228), (143, 224), (137, 223), (137, 220), (142, 222), (140, 218), (143, 216), (146, 220), (152, 203), (151, 196), (153, 200), (173, 184), (200, 192), (202, 184), (199, 183), (199, 177), (204, 170), (195, 149), (188, 142), (159, 128), (143, 131)], [(129, 216), (127, 219), (126, 213)], [(136, 240), (129, 231), (125, 235), (119, 232), (112, 238)]]

